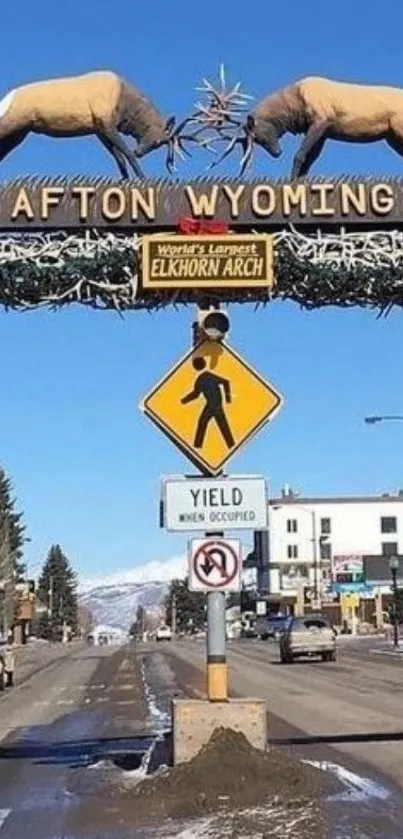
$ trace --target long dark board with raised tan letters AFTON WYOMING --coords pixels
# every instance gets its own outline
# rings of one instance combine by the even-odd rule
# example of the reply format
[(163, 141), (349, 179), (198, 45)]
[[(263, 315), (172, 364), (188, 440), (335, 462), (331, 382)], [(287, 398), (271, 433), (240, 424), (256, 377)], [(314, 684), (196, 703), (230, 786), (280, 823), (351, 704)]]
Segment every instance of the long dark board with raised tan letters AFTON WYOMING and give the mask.
[(287, 224), (373, 227), (403, 222), (401, 180), (144, 181), (48, 178), (0, 188), (0, 229), (127, 228), (176, 230), (184, 216), (255, 229)]

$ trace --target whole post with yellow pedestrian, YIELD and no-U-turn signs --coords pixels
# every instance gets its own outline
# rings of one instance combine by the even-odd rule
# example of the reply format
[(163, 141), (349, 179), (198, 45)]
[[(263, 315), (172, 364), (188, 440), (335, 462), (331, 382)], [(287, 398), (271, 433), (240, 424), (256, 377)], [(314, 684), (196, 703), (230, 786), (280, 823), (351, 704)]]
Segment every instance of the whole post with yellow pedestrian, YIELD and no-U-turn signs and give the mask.
[[(186, 242), (182, 246), (188, 258)], [(152, 256), (149, 248), (147, 270), (155, 257), (160, 271), (163, 255)], [(189, 588), (207, 595), (206, 687), (211, 702), (228, 699), (225, 593), (241, 588), (240, 545), (224, 539), (223, 525), (267, 527), (264, 479), (251, 476), (248, 484), (247, 478), (225, 478), (222, 471), (283, 403), (280, 393), (224, 343), (226, 331), (213, 340), (202, 327), (195, 329), (192, 349), (140, 406), (201, 472), (200, 478), (177, 480), (175, 486), (168, 479), (160, 513), (168, 530), (205, 532), (204, 539), (191, 543)]]

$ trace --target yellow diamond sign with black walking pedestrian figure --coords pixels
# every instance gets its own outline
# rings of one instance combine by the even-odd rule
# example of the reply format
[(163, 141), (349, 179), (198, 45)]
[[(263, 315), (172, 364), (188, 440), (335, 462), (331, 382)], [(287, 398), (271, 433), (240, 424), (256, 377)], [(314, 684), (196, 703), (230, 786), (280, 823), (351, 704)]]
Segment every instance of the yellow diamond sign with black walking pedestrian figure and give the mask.
[(202, 472), (218, 475), (282, 402), (232, 348), (203, 341), (168, 371), (140, 408)]

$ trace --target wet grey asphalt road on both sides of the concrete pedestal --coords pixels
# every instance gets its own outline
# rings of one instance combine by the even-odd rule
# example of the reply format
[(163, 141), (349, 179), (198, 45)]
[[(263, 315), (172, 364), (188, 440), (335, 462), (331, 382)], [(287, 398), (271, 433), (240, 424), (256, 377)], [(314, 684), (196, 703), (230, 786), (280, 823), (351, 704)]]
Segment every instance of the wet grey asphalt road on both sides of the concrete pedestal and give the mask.
[[(313, 734), (398, 727), (400, 660), (377, 658), (370, 647), (354, 644), (343, 648), (336, 665), (287, 668), (276, 659), (273, 644), (229, 645), (233, 689), (267, 700), (278, 715), (272, 736), (294, 734), (295, 727)], [(17, 686), (0, 697), (0, 839), (210, 839), (203, 823), (191, 830), (160, 825), (139, 832), (133, 826), (133, 786), (144, 777), (136, 748), (169, 727), (174, 696), (203, 694), (204, 662), (204, 643), (192, 641), (139, 645), (137, 651), (81, 644), (21, 653)], [(338, 762), (347, 773), (361, 771), (359, 761), (366, 760), (401, 783), (399, 742), (298, 748), (297, 757)], [(376, 772), (368, 789), (361, 809), (344, 801), (331, 805), (335, 823), (343, 825), (334, 839), (400, 839), (400, 789)], [(284, 818), (279, 833), (273, 819), (272, 835), (291, 839)], [(225, 835), (225, 820), (210, 827), (213, 839)]]

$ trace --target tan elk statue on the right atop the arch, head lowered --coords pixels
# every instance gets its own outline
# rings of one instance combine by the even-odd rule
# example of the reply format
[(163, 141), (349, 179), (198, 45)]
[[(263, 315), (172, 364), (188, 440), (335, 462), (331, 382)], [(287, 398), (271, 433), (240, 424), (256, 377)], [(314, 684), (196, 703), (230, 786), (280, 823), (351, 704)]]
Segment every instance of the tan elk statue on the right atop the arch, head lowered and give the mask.
[[(219, 94), (215, 94), (217, 100)], [(250, 164), (254, 144), (272, 157), (281, 155), (279, 140), (286, 134), (304, 134), (292, 165), (291, 178), (307, 175), (327, 139), (349, 143), (386, 142), (403, 156), (403, 89), (367, 86), (308, 77), (266, 96), (241, 123), (223, 101), (216, 128), (230, 139), (228, 126), (238, 125), (217, 165), (240, 144), (241, 172)], [(210, 125), (212, 120), (210, 119)]]

